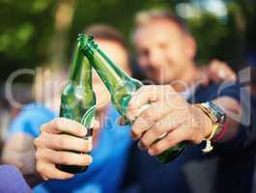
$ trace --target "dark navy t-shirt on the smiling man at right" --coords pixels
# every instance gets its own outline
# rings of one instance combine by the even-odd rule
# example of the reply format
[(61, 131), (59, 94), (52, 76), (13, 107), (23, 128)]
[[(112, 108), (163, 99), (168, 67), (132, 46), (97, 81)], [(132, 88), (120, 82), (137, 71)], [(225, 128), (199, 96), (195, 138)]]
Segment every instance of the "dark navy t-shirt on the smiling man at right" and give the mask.
[[(222, 85), (223, 87), (223, 85)], [(240, 101), (241, 88), (238, 85), (211, 84), (199, 87), (190, 102), (213, 100), (217, 96), (231, 96)], [(169, 164), (159, 163), (147, 152), (141, 152), (134, 143), (127, 170), (126, 184), (132, 192), (173, 193), (216, 193), (249, 192), (255, 165), (252, 143), (246, 141), (246, 128), (229, 144), (215, 147), (213, 152), (203, 154), (205, 143), (189, 145), (183, 153)], [(239, 141), (239, 143), (237, 143)], [(228, 147), (228, 148), (227, 148)]]

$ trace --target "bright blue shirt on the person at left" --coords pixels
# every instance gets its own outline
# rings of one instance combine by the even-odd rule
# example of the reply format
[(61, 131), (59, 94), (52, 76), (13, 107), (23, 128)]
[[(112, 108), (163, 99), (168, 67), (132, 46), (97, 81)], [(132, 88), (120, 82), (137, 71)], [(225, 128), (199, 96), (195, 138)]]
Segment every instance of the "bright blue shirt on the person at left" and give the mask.
[[(56, 116), (43, 106), (31, 104), (25, 107), (11, 125), (11, 134), (27, 133), (33, 137), (40, 134), (41, 124)], [(100, 131), (99, 141), (92, 152), (93, 163), (85, 173), (72, 179), (49, 180), (34, 188), (34, 192), (115, 193), (123, 178), (131, 144), (128, 126), (118, 124), (119, 114), (111, 106), (107, 122)]]

